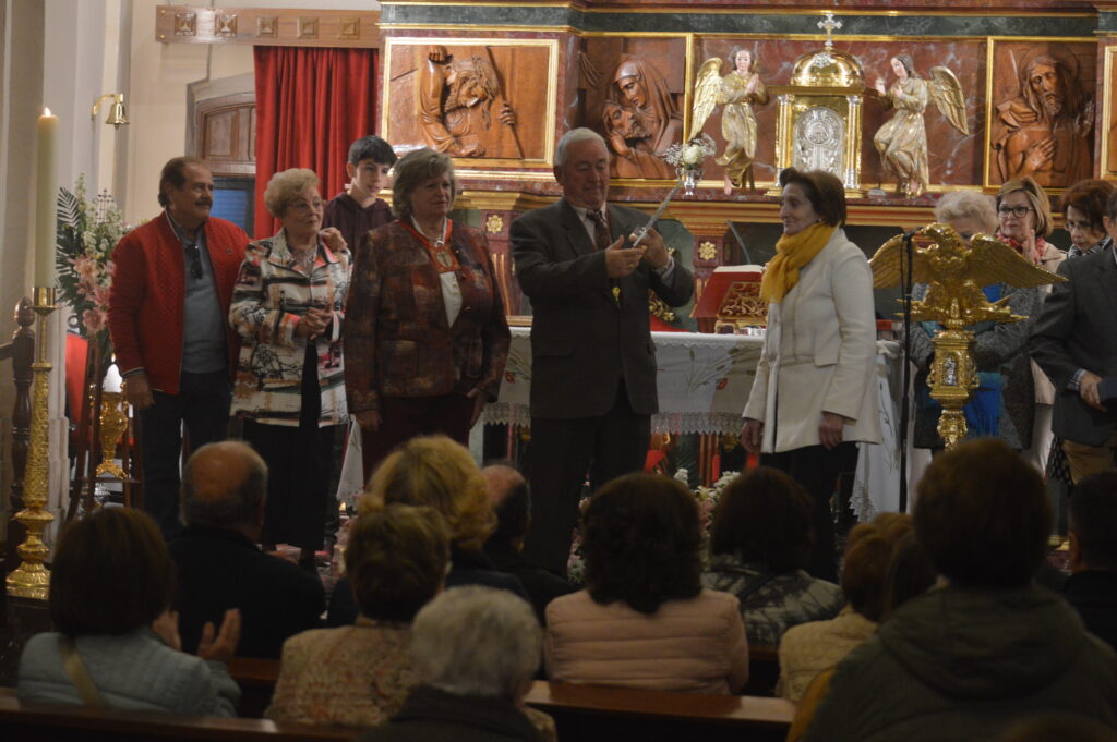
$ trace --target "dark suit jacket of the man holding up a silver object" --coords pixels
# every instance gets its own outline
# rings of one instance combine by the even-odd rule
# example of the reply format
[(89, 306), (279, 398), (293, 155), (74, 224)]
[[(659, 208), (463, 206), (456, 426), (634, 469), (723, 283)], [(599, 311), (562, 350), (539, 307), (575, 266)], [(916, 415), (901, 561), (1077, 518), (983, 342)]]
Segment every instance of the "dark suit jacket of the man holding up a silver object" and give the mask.
[[(634, 209), (609, 205), (613, 240), (647, 221), (647, 214)], [(665, 283), (643, 261), (620, 279), (618, 306), (604, 252), (594, 248), (564, 200), (512, 223), (512, 257), (519, 286), (532, 300), (532, 416), (604, 415), (617, 399), (621, 378), (634, 412), (658, 412), (648, 290), (671, 307), (685, 305), (694, 292), (690, 271), (676, 261)]]

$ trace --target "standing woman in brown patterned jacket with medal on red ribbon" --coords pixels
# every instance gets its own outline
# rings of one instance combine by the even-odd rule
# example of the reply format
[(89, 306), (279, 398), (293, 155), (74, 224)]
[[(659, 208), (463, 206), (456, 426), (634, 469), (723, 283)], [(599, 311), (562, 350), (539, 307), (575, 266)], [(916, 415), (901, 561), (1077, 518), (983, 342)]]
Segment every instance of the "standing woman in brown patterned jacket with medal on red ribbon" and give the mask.
[(485, 233), (450, 219), (456, 193), (448, 155), (408, 153), (395, 163), (395, 221), (370, 232), (354, 256), (345, 388), (365, 476), (417, 435), (468, 443), (500, 386), (504, 302)]

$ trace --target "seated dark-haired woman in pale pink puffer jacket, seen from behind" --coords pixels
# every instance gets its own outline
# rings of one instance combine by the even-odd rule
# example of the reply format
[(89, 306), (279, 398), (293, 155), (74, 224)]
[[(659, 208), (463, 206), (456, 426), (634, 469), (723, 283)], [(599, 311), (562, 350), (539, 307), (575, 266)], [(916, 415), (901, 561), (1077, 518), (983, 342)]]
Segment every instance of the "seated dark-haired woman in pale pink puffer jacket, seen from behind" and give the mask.
[(552, 680), (733, 693), (748, 680), (737, 598), (703, 589), (698, 505), (680, 482), (638, 472), (582, 515), (586, 589), (547, 606)]

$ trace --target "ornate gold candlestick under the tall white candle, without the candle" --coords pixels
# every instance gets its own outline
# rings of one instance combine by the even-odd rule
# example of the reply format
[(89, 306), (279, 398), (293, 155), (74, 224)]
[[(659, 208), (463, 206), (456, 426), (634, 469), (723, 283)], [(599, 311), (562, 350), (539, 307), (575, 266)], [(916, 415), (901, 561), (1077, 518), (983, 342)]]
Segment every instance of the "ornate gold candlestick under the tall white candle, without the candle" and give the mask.
[(34, 293), (35, 312), (39, 316), (36, 339), (36, 362), (31, 364), (35, 387), (31, 395), (31, 436), (23, 473), (25, 509), (15, 518), (27, 529), (27, 539), (19, 545), (19, 567), (8, 576), (8, 595), (18, 598), (46, 600), (50, 588), (50, 572), (44, 562), (50, 549), (42, 541), (42, 532), (54, 521), (47, 509), (50, 488), (49, 440), (47, 418), (50, 414), (50, 362), (47, 360), (47, 317), (55, 310), (55, 289), (37, 286)]

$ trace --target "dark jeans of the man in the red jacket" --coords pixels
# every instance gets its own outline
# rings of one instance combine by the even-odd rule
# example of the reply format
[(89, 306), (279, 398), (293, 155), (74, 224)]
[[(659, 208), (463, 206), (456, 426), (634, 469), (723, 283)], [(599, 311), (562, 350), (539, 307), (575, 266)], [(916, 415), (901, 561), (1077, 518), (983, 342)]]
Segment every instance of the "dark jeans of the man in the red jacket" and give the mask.
[(179, 486), (182, 427), (190, 451), (223, 441), (229, 430), (229, 374), (182, 373), (178, 394), (152, 392), (155, 404), (140, 411), (140, 452), (143, 456), (143, 507), (170, 539), (182, 530)]

